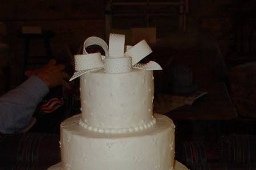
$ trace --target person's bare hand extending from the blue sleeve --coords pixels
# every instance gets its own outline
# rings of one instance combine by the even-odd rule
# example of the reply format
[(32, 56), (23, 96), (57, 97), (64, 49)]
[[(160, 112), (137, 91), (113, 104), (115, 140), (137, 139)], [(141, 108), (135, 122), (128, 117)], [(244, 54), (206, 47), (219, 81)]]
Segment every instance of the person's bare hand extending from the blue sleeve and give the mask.
[(36, 76), (40, 78), (48, 88), (54, 88), (63, 85), (67, 89), (71, 89), (70, 84), (66, 81), (70, 76), (64, 71), (63, 64), (57, 64), (55, 60), (50, 60), (44, 67), (35, 69), (34, 71), (26, 71), (25, 76)]

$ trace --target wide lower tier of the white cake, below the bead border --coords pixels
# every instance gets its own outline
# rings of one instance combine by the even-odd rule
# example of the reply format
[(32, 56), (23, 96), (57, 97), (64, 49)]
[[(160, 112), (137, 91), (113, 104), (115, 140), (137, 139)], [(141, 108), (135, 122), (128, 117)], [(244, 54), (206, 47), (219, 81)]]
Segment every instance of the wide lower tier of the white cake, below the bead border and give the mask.
[(62, 168), (76, 170), (174, 169), (174, 124), (155, 114), (154, 127), (127, 134), (101, 134), (79, 126), (81, 115), (60, 126)]

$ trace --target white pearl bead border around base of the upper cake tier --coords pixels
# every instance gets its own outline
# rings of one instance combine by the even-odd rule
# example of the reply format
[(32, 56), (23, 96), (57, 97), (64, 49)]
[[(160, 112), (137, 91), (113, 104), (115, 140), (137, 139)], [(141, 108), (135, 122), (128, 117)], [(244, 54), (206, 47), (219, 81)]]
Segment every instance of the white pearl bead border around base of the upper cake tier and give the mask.
[(91, 130), (94, 132), (99, 132), (101, 134), (127, 134), (129, 132), (137, 132), (142, 131), (147, 128), (151, 128), (155, 126), (156, 124), (156, 118), (153, 118), (152, 121), (148, 123), (144, 123), (142, 125), (134, 126), (134, 127), (127, 127), (127, 128), (101, 128), (101, 127), (94, 127), (94, 126), (88, 126), (86, 123), (82, 121), (82, 119), (79, 120), (79, 125), (86, 128), (87, 130)]

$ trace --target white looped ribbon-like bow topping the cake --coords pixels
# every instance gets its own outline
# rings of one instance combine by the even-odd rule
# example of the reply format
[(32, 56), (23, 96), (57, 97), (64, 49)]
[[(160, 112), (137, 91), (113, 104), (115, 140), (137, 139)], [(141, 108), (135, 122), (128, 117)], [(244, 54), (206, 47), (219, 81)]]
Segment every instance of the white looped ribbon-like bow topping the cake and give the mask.
[[(87, 72), (103, 68), (105, 68), (105, 72), (109, 73), (130, 72), (132, 68), (144, 70), (162, 69), (155, 61), (149, 61), (147, 64), (139, 63), (140, 60), (152, 52), (145, 40), (142, 40), (133, 47), (129, 45), (125, 46), (124, 40), (124, 35), (110, 34), (108, 48), (107, 43), (101, 38), (91, 36), (86, 39), (83, 47), (83, 55), (75, 55), (76, 72), (70, 78), (70, 81)], [(100, 53), (88, 53), (86, 48), (90, 45), (99, 45), (103, 48), (105, 56)]]

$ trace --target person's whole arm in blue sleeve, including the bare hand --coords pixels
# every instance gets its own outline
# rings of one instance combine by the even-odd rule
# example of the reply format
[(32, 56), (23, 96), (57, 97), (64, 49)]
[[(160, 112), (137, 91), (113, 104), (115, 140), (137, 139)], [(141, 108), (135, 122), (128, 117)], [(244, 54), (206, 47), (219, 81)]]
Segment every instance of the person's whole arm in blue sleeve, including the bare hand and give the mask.
[(43, 68), (25, 73), (29, 79), (0, 97), (0, 132), (13, 133), (29, 125), (36, 106), (49, 88), (63, 85), (71, 88), (63, 64), (50, 60)]

